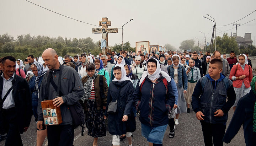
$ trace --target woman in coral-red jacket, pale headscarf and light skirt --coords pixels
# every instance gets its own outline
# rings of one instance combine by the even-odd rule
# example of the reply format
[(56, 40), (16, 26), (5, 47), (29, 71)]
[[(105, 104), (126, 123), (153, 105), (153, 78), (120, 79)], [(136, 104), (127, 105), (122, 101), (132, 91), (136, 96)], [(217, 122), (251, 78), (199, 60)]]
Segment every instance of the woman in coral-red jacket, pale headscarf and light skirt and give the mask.
[(251, 90), (252, 68), (248, 65), (247, 56), (245, 54), (238, 56), (238, 64), (232, 67), (229, 79), (233, 81), (236, 93), (236, 101), (233, 105), (235, 111), (239, 99)]

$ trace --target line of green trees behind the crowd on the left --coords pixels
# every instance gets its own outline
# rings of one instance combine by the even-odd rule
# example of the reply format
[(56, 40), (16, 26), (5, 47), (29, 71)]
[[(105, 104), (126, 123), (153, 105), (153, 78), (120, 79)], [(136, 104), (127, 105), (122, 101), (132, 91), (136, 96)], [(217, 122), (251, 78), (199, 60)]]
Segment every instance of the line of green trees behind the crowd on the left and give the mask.
[[(22, 34), (16, 39), (8, 33), (0, 34), (0, 57), (12, 55), (16, 59), (24, 60), (27, 55), (33, 54), (35, 57), (41, 56), (47, 48), (56, 50), (59, 56), (69, 54), (74, 56), (84, 52), (91, 52), (93, 55), (98, 55), (101, 52), (99, 41), (94, 42), (91, 37), (67, 39), (48, 36), (33, 36), (30, 34)], [(111, 51), (119, 52), (122, 49), (122, 44), (110, 46)], [(135, 48), (130, 46), (130, 43), (124, 43), (124, 50), (135, 51)]]

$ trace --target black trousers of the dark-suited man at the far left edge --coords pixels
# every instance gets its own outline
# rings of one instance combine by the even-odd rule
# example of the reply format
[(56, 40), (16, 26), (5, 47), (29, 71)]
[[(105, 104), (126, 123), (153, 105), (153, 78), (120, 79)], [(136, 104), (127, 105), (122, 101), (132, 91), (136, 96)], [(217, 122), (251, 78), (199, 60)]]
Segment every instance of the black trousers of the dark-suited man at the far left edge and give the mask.
[(20, 131), (18, 129), (18, 119), (15, 107), (10, 109), (2, 109), (1, 113), (3, 127), (7, 131), (5, 146), (22, 146)]

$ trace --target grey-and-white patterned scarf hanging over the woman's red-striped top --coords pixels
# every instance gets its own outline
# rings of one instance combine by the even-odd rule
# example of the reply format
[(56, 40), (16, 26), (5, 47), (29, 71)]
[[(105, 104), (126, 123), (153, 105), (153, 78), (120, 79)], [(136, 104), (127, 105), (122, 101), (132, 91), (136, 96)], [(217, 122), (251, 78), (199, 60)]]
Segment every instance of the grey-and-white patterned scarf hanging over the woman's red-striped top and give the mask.
[(91, 97), (92, 80), (94, 80), (97, 75), (97, 71), (94, 72), (94, 75), (92, 75), (92, 77), (88, 75), (88, 80), (84, 83), (85, 94), (81, 98), (82, 102), (85, 102), (85, 100), (88, 100), (88, 98)]

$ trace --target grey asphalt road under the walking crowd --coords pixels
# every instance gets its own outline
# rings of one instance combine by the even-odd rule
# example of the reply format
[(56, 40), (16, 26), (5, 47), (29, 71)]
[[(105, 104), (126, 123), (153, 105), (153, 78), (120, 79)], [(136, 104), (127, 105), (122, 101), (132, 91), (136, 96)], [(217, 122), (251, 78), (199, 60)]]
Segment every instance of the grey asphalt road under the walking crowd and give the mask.
[[(229, 124), (231, 117), (233, 115), (233, 108), (229, 110)], [(33, 119), (33, 117), (32, 117)], [(33, 119), (34, 120), (34, 119)], [(141, 125), (138, 120), (136, 119), (136, 126), (137, 130), (133, 133), (133, 146), (146, 146), (148, 142), (146, 139), (141, 135)], [(239, 133), (235, 136), (235, 138), (231, 141), (230, 144), (232, 146), (241, 146), (245, 145), (244, 142), (244, 130), (241, 128)], [(87, 129), (85, 129), (84, 136), (81, 136), (81, 129), (75, 129), (75, 137), (74, 137), (74, 145), (75, 146), (91, 146), (93, 143), (93, 137), (87, 135)], [(25, 146), (34, 146), (36, 145), (36, 124), (34, 121), (31, 121), (30, 128), (24, 134), (22, 134), (22, 141), (23, 145)], [(4, 141), (0, 142), (0, 146), (4, 145)], [(112, 144), (112, 136), (107, 132), (107, 136), (100, 137), (98, 139), (99, 146), (111, 146)], [(128, 145), (127, 139), (121, 141), (122, 145)], [(44, 145), (47, 146), (47, 141), (45, 140)], [(203, 142), (203, 133), (201, 129), (200, 122), (196, 119), (196, 114), (194, 112), (191, 113), (183, 113), (180, 115), (179, 124), (175, 127), (175, 137), (170, 139), (169, 138), (169, 126), (165, 132), (164, 146), (183, 146), (183, 145), (197, 145), (202, 146), (204, 145)], [(227, 145), (227, 144), (224, 144)]]

